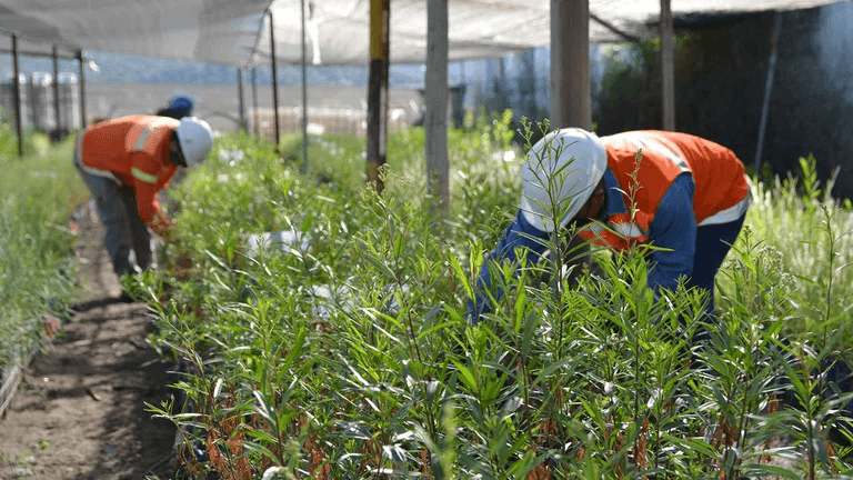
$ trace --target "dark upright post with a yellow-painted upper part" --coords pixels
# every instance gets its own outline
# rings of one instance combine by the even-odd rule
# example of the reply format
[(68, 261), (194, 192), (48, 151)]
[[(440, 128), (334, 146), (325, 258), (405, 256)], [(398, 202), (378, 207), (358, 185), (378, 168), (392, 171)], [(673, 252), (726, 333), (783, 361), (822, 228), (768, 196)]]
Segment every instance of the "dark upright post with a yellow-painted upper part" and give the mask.
[[(368, 183), (378, 193), (385, 189), (380, 172), (385, 164), (388, 133), (388, 66), (390, 0), (370, 1), (370, 66), (368, 72)], [(429, 84), (428, 84), (429, 87)]]

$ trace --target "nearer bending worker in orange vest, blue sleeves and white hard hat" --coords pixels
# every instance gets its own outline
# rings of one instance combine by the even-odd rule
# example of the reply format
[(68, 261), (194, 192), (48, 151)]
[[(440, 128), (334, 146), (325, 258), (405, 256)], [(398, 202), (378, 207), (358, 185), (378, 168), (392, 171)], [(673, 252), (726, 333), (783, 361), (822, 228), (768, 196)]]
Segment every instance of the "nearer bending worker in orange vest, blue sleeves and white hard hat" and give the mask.
[(491, 264), (515, 261), (519, 247), (536, 262), (546, 250), (543, 240), (570, 223), (583, 227), (583, 239), (615, 251), (661, 247), (650, 253), (649, 287), (674, 290), (684, 277), (688, 287), (710, 293), (708, 313), (713, 314), (714, 277), (750, 206), (749, 178), (731, 150), (686, 133), (646, 130), (599, 138), (570, 128), (531, 148), (521, 178), (515, 221), (480, 271), (469, 304), (473, 320), (491, 310), (483, 294), (491, 288)]

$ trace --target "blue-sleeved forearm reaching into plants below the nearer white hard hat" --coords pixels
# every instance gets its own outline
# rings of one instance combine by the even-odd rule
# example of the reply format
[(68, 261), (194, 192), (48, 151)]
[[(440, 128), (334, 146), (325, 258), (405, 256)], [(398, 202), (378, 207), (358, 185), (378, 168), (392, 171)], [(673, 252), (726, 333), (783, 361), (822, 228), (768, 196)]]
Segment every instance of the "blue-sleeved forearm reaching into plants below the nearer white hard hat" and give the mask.
[[(500, 271), (496, 264), (503, 260), (515, 263), (518, 260), (515, 249), (519, 247), (525, 249), (528, 263), (535, 263), (546, 250), (544, 246), (544, 239), (546, 238), (548, 233), (531, 226), (521, 210), (519, 210), (515, 221), (503, 232), (498, 247), (486, 256), (483, 267), (480, 269), (480, 277), (476, 280), (475, 299), (474, 301), (469, 301), (468, 306), (469, 316), (472, 321), (478, 321), (482, 313), (488, 313), (492, 310), (489, 296), (485, 293), (486, 290), (492, 289), (491, 269), (495, 268)], [(500, 299), (503, 296), (503, 290), (498, 287), (492, 290), (492, 294), (495, 299)]]

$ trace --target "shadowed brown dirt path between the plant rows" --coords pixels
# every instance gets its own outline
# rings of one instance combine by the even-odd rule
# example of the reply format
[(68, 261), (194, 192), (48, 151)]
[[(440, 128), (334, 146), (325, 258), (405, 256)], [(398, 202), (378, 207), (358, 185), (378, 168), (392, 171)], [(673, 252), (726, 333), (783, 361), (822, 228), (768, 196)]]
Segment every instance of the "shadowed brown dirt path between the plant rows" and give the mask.
[(173, 477), (174, 428), (144, 403), (169, 398), (170, 366), (145, 343), (143, 303), (122, 303), (94, 214), (80, 226), (76, 306), (58, 340), (24, 370), (0, 420), (0, 479)]

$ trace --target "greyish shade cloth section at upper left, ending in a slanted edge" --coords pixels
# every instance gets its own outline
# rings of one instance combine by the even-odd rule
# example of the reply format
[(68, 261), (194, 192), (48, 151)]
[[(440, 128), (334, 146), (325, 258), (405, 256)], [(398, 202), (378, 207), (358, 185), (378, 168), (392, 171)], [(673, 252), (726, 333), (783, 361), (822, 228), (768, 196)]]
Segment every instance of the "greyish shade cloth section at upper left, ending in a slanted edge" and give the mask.
[[(23, 50), (100, 50), (242, 64), (269, 0), (2, 0), (0, 30)], [(8, 37), (8, 36), (3, 36)], [(3, 38), (0, 47), (7, 47)], [(49, 50), (48, 50), (49, 51)]]

